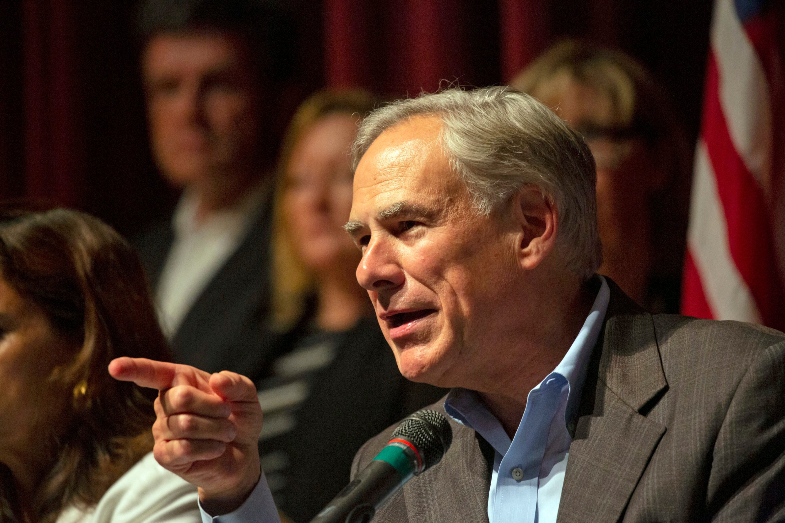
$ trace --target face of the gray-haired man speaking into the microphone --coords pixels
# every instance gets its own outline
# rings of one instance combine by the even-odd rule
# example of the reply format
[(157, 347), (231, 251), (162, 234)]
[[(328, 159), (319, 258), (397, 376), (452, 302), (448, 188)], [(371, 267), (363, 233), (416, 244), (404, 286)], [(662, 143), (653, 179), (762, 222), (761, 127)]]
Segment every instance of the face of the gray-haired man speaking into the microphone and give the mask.
[(512, 231), (473, 208), (440, 127), (438, 118), (415, 117), (371, 144), (346, 228), (363, 253), (357, 280), (400, 372), (451, 387), (466, 383), (505, 330), (499, 304), (512, 297), (506, 284), (517, 265)]

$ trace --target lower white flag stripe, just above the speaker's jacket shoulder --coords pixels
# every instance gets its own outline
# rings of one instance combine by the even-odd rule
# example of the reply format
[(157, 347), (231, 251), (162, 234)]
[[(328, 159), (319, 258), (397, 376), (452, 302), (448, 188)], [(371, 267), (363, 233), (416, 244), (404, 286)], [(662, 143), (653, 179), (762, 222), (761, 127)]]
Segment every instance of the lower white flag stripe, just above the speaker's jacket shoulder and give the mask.
[(714, 318), (761, 323), (750, 289), (731, 257), (725, 212), (703, 140), (696, 150), (691, 199), (687, 245)]

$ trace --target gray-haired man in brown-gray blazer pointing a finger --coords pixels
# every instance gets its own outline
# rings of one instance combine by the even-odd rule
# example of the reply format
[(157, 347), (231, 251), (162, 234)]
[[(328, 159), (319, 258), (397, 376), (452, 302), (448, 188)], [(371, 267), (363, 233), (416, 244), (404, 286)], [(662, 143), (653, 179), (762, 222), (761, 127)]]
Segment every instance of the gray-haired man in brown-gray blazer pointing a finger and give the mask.
[[(596, 276), (593, 159), (564, 122), (511, 89), (451, 89), (375, 111), (354, 154), (357, 279), (403, 375), (453, 389), (436, 406), (451, 450), (374, 521), (783, 518), (785, 336), (652, 316)], [(250, 383), (111, 372), (176, 385), (156, 458), (210, 514), (239, 510), (218, 521), (266, 521), (250, 516), (269, 503), (244, 444), (261, 426)]]

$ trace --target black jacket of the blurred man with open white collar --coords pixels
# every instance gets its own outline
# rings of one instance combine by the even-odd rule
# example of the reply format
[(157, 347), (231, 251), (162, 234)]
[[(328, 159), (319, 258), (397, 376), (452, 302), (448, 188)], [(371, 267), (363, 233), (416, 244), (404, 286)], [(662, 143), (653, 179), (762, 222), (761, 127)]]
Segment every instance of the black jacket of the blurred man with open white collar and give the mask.
[[(269, 202), (194, 302), (172, 340), (174, 361), (206, 372), (231, 370), (260, 377), (279, 340), (267, 326), (270, 308)], [(174, 242), (172, 220), (157, 223), (134, 242), (152, 288), (158, 285)]]

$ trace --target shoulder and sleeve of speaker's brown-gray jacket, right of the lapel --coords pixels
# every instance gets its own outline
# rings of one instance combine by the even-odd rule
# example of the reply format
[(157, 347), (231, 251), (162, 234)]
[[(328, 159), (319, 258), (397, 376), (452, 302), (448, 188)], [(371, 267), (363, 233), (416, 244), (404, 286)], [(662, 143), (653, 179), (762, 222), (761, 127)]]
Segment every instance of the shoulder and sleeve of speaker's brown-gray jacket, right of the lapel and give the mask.
[(785, 335), (740, 321), (652, 321), (668, 388), (645, 416), (666, 432), (625, 521), (769, 521), (760, 514), (783, 499)]

